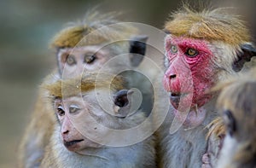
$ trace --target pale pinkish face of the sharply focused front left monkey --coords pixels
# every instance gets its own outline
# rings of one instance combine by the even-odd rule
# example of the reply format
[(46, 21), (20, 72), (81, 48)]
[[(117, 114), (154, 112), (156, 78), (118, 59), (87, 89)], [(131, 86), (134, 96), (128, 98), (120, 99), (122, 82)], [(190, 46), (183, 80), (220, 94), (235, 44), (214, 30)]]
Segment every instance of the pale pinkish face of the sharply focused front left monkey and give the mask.
[[(84, 126), (84, 115), (88, 113), (87, 103), (81, 102), (79, 97), (70, 97), (65, 100), (55, 101), (55, 113), (61, 125), (61, 140), (64, 146), (72, 152), (79, 152), (84, 148), (100, 148), (101, 144), (91, 141), (84, 132), (80, 131)], [(90, 125), (90, 121), (84, 121)], [(78, 126), (81, 125), (81, 126)], [(93, 130), (89, 132), (93, 134)]]

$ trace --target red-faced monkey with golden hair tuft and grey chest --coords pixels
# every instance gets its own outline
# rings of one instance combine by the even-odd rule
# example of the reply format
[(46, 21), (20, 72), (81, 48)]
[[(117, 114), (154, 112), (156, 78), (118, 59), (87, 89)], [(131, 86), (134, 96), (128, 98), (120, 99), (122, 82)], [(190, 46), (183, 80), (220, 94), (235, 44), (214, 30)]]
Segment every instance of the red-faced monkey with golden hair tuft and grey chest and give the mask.
[(253, 45), (243, 21), (224, 9), (184, 7), (172, 14), (165, 30), (163, 84), (171, 106), (157, 131), (160, 167), (201, 167), (207, 150), (205, 128), (217, 115), (218, 93), (209, 90), (241, 72), (255, 54)]

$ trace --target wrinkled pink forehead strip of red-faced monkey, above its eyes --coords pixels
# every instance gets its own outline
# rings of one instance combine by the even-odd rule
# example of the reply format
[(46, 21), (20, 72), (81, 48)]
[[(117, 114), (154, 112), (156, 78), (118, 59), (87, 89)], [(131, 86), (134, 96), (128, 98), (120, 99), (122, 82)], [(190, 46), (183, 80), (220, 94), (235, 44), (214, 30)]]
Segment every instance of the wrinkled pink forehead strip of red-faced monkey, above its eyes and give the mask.
[(212, 51), (209, 49), (210, 43), (203, 39), (195, 39), (195, 38), (186, 38), (186, 37), (176, 37), (172, 35), (166, 36), (166, 48), (170, 47), (170, 45), (177, 45), (182, 48), (193, 48), (197, 50), (201, 50), (203, 52), (211, 54)]

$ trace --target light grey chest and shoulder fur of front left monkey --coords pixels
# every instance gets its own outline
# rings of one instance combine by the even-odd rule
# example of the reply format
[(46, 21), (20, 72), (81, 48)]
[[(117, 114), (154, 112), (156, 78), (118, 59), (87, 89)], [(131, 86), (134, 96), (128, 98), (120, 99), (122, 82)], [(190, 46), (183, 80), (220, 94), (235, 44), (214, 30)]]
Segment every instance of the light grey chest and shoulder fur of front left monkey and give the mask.
[[(60, 126), (55, 126), (55, 132), (46, 149), (41, 167), (52, 168), (154, 168), (154, 139), (148, 137), (143, 142), (123, 148), (88, 148), (93, 154), (81, 155), (70, 152), (64, 147), (60, 137)], [(132, 138), (132, 137), (131, 137)], [(102, 159), (101, 159), (102, 158)]]

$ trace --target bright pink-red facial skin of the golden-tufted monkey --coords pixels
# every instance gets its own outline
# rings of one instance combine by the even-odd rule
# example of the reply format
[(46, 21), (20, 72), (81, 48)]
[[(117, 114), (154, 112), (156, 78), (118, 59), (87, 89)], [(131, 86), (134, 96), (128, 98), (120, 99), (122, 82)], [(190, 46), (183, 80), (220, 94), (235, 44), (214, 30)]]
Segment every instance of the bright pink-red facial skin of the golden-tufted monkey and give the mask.
[[(171, 93), (170, 102), (179, 113), (190, 108), (190, 114), (185, 122), (189, 125), (200, 124), (195, 118), (201, 118), (201, 122), (203, 121), (206, 112), (199, 113), (201, 116), (197, 117), (192, 113), (196, 113), (195, 109), (202, 107), (212, 97), (206, 94), (214, 84), (212, 51), (208, 46), (209, 43), (201, 39), (166, 37), (168, 65), (163, 78), (164, 88)], [(193, 49), (195, 55), (189, 55), (189, 49)]]

